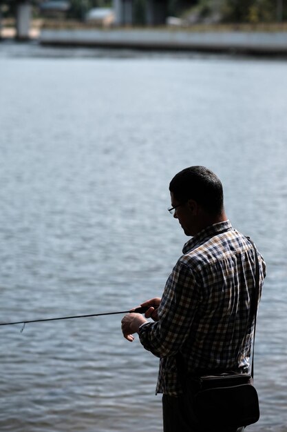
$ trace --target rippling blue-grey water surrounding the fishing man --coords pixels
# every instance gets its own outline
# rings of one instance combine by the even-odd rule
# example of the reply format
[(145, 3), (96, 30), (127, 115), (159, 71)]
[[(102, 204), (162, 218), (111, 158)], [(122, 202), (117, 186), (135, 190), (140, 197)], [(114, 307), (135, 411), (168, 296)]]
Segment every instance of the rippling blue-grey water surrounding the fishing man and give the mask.
[[(202, 164), (264, 255), (260, 422), (287, 431), (287, 63), (0, 44), (1, 322), (121, 311), (182, 244), (168, 184)], [(0, 326), (0, 430), (158, 432), (158, 360), (121, 315)]]

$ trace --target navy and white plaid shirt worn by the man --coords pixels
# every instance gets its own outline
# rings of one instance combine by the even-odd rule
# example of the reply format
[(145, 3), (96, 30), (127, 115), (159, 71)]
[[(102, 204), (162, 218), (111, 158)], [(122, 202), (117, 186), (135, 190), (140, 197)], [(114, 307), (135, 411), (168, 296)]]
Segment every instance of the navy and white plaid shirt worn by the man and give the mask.
[[(158, 322), (139, 329), (142, 345), (160, 357), (156, 393), (178, 395), (176, 354), (189, 373), (248, 367), (254, 320), (252, 244), (229, 221), (202, 230), (184, 245), (158, 308)], [(257, 253), (260, 295), (265, 263)]]

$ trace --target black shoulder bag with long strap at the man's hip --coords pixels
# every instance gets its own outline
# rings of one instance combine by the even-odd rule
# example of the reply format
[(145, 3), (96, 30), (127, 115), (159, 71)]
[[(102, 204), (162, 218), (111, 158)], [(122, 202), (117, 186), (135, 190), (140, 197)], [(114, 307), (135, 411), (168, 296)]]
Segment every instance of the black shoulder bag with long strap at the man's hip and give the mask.
[[(250, 239), (249, 239), (250, 240)], [(251, 240), (250, 240), (251, 241)], [(251, 242), (253, 244), (253, 242)], [(255, 252), (255, 293), (251, 301), (251, 316), (255, 317), (251, 373), (226, 372), (220, 375), (191, 377), (189, 393), (196, 418), (203, 430), (207, 428), (239, 428), (259, 420), (259, 402), (253, 386), (253, 360), (257, 301), (259, 299), (259, 262)], [(180, 365), (180, 362), (178, 362)], [(180, 366), (180, 370), (182, 367)], [(205, 429), (204, 429), (205, 428)]]

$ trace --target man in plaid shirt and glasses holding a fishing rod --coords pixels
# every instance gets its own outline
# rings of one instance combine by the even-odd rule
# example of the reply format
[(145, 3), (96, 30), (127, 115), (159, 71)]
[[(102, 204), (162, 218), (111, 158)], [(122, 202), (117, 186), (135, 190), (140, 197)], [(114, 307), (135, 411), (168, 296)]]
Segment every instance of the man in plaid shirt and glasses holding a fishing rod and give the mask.
[[(221, 181), (210, 170), (186, 168), (173, 177), (169, 190), (169, 212), (192, 238), (184, 245), (162, 299), (141, 305), (150, 306), (145, 316), (154, 322), (130, 313), (123, 318), (122, 329), (131, 342), (138, 333), (142, 345), (160, 357), (156, 391), (163, 393), (164, 432), (209, 432), (198, 423), (182, 386), (182, 370), (202, 375), (246, 371), (250, 366), (255, 251), (228, 221)], [(265, 264), (259, 253), (257, 257), (261, 293)]]

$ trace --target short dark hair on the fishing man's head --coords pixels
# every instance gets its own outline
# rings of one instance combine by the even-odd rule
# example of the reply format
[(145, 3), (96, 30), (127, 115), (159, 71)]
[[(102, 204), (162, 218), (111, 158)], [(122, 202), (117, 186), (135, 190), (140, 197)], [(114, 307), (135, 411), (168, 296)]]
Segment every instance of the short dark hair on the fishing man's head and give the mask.
[(204, 166), (190, 166), (176, 174), (169, 190), (180, 203), (194, 199), (210, 215), (220, 215), (224, 208), (220, 179)]

